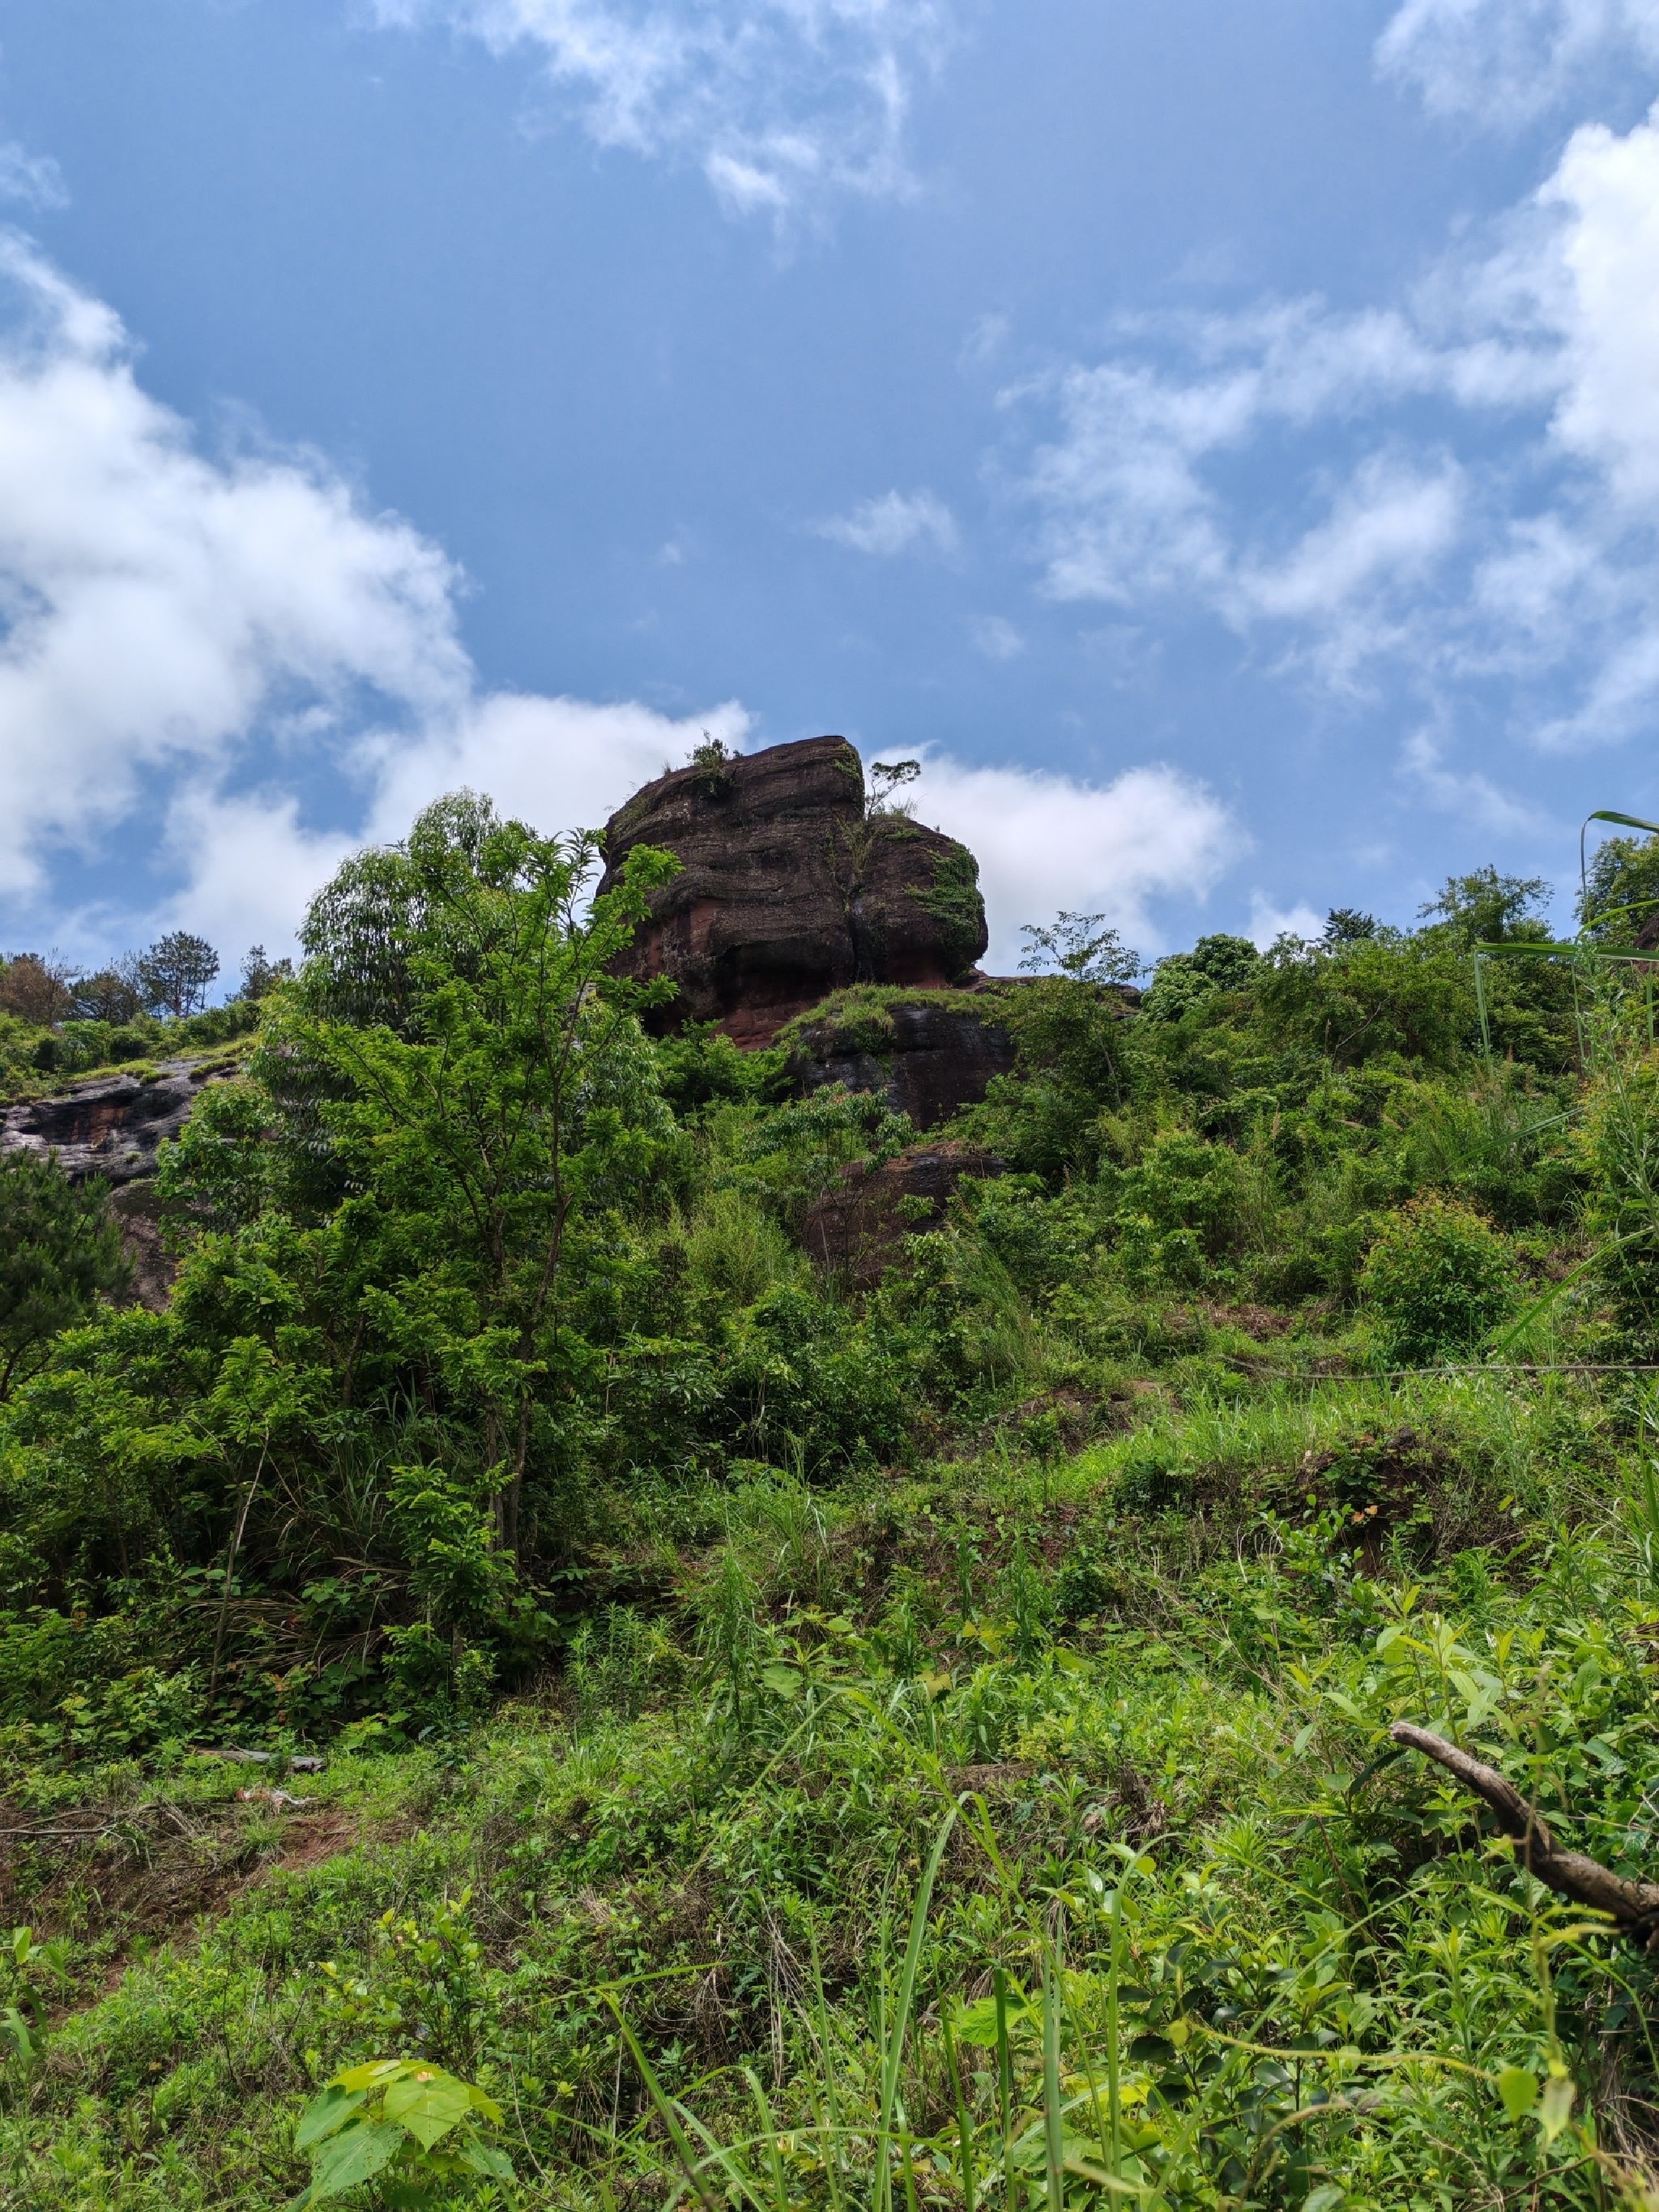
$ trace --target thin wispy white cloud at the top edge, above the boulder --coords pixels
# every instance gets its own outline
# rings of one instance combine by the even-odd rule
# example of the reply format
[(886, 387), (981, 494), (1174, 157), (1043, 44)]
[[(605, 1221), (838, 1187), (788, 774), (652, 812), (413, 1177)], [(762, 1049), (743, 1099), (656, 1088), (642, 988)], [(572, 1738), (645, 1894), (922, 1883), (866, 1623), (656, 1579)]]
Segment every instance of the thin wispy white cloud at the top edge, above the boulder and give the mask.
[(905, 124), (956, 0), (369, 0), (542, 60), (599, 146), (692, 161), (732, 215), (911, 190)]

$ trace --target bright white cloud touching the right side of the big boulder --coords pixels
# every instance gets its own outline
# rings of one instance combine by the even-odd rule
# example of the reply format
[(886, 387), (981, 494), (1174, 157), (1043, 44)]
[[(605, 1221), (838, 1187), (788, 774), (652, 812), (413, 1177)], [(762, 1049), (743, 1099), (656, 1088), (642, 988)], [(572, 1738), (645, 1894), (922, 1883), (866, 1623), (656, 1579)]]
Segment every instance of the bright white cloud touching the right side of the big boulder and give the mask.
[(1020, 958), (1020, 925), (1048, 922), (1062, 907), (1104, 914), (1150, 949), (1148, 900), (1201, 898), (1243, 849), (1221, 801), (1175, 768), (1128, 768), (1110, 783), (1084, 783), (927, 752), (916, 812), (978, 856), (987, 958), (1004, 973)]

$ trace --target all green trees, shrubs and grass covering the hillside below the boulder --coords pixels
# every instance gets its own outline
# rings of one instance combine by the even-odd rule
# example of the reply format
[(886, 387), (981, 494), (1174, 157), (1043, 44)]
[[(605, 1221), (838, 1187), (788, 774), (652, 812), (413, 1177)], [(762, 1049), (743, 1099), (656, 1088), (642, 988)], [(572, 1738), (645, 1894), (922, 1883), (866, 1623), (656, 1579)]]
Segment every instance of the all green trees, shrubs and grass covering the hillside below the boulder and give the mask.
[(1659, 2203), (1652, 1960), (1389, 1736), (1652, 1878), (1646, 971), (1062, 916), (856, 1290), (911, 1133), (650, 1042), (595, 860), (349, 863), (0, 1407), (4, 2201)]

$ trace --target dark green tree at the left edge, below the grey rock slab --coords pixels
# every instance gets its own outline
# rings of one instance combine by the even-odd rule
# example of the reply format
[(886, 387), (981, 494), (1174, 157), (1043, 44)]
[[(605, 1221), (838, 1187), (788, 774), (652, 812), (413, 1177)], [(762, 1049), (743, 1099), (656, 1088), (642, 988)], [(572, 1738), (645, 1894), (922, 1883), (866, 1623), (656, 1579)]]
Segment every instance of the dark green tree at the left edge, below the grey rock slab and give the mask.
[(128, 1265), (102, 1183), (71, 1183), (33, 1152), (0, 1157), (0, 1398), (53, 1338), (124, 1290)]

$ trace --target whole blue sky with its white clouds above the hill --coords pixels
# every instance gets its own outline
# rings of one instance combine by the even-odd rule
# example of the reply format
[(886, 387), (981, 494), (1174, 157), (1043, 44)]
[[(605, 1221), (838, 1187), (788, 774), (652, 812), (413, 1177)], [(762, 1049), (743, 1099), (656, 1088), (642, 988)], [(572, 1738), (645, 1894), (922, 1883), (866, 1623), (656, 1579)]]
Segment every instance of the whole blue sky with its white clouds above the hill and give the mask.
[(922, 754), (1057, 907), (1659, 810), (1659, 0), (0, 0), (0, 945)]

